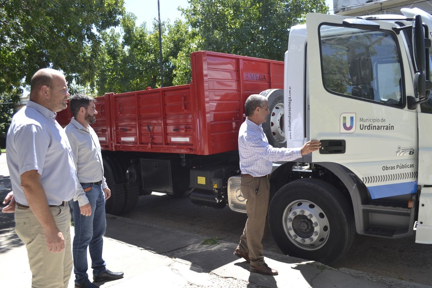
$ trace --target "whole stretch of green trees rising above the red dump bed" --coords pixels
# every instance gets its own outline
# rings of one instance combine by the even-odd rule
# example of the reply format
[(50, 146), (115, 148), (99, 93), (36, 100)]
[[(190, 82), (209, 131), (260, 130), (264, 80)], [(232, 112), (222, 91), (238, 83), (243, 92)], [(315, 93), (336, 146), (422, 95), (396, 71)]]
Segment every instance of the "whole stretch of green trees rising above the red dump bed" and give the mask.
[[(209, 50), (283, 60), (289, 27), (308, 12), (327, 13), (324, 0), (190, 0), (186, 22), (161, 23), (164, 86), (191, 82), (194, 51)], [(158, 22), (137, 26), (126, 14), (121, 33), (102, 32), (96, 89), (128, 92), (161, 86)], [(121, 39), (122, 38), (122, 39)]]

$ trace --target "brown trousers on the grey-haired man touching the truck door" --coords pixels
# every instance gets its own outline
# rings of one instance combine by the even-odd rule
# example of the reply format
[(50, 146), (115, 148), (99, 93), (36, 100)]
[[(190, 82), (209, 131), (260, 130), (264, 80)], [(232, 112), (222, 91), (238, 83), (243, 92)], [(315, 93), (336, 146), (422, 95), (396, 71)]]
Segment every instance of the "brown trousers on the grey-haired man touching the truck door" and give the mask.
[(246, 221), (238, 250), (249, 253), (251, 266), (264, 264), (263, 239), (269, 206), (270, 182), (267, 177), (241, 177), (240, 189), (246, 201)]

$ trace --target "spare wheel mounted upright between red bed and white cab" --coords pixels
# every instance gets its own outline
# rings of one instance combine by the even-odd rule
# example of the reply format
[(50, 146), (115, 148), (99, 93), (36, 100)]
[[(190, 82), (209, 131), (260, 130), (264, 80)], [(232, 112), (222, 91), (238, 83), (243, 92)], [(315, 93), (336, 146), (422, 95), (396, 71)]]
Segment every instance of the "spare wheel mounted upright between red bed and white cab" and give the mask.
[(260, 93), (267, 97), (270, 114), (262, 124), (264, 133), (271, 146), (276, 148), (286, 147), (284, 129), (284, 104), (282, 89), (267, 89)]

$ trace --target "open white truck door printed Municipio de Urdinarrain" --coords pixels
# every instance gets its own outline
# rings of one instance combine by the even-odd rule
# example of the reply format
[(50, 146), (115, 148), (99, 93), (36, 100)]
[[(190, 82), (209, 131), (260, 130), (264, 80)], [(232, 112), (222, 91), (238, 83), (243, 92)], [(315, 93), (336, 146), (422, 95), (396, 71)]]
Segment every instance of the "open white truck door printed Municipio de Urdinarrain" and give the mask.
[(394, 23), (312, 13), (306, 22), (308, 138), (322, 142), (312, 161), (345, 166), (372, 199), (415, 193), (412, 71)]

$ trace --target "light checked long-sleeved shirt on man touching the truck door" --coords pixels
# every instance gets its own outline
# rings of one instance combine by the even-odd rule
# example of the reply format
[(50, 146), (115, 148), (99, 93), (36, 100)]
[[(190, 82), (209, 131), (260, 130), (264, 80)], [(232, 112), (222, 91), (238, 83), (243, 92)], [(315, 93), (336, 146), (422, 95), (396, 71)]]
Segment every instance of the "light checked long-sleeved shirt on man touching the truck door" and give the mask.
[(272, 171), (273, 161), (293, 161), (301, 158), (302, 148), (274, 148), (264, 134), (261, 125), (246, 117), (238, 131), (238, 154), (242, 174), (265, 176)]

